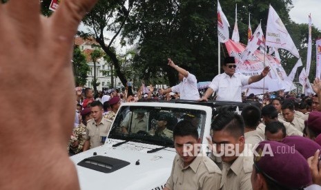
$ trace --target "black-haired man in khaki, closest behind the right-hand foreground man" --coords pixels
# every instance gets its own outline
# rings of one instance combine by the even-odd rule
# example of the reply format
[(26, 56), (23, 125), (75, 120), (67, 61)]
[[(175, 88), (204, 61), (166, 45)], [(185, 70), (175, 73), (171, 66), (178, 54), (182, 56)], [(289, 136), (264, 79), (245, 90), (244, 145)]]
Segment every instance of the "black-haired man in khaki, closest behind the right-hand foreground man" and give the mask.
[(257, 125), (259, 125), (261, 121), (261, 109), (255, 105), (246, 105), (242, 109), (241, 116), (244, 120), (245, 142), (254, 147), (257, 143), (264, 140), (256, 130)]

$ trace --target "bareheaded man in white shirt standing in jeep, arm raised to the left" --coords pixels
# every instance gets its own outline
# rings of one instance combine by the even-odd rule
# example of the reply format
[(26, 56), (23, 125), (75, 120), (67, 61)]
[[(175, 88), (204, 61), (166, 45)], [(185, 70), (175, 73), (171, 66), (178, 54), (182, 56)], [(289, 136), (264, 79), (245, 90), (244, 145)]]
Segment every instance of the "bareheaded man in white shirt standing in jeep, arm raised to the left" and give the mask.
[(178, 78), (181, 83), (170, 87), (168, 89), (161, 89), (161, 94), (168, 92), (177, 92), (182, 100), (198, 100), (200, 99), (200, 94), (197, 89), (197, 79), (195, 75), (189, 73), (183, 68), (175, 65), (175, 63), (168, 58), (168, 65), (173, 67), (178, 72)]

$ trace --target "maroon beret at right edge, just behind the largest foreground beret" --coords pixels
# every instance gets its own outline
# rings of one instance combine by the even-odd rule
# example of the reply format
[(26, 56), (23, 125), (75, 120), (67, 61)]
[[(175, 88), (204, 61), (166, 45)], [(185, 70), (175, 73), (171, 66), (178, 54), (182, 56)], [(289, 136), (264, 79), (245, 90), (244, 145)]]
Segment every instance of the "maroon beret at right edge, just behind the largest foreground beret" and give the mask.
[(318, 149), (321, 150), (321, 146), (317, 142), (303, 136), (287, 136), (282, 140), (282, 143), (294, 147), (305, 159), (314, 156)]

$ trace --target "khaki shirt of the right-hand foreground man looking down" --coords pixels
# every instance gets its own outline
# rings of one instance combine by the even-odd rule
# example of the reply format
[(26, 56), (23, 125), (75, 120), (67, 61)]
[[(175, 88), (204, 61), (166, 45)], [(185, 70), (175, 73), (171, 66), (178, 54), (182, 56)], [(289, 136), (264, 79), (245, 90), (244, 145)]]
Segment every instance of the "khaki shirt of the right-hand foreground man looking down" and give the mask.
[(253, 156), (239, 156), (231, 163), (223, 163), (221, 190), (252, 190)]

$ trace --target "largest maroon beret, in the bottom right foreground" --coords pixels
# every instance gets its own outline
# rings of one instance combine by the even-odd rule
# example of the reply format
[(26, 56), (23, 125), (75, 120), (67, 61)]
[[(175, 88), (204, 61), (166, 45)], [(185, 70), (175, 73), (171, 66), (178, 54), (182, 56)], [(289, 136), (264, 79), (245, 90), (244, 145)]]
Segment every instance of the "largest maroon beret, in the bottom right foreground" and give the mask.
[(307, 160), (293, 147), (276, 141), (262, 141), (254, 152), (254, 166), (266, 180), (284, 189), (300, 189), (312, 184)]

